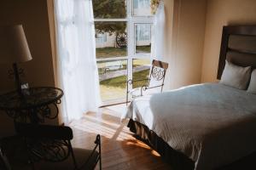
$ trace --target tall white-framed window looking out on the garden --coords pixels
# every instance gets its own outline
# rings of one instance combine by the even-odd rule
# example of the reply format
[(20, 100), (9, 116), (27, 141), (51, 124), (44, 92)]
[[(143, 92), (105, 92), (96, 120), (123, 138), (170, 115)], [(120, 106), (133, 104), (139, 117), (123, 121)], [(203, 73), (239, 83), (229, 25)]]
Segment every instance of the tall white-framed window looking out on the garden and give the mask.
[[(125, 99), (126, 81), (147, 78), (153, 16), (150, 0), (93, 0), (96, 59), (104, 104)], [(125, 101), (125, 100), (124, 100)]]

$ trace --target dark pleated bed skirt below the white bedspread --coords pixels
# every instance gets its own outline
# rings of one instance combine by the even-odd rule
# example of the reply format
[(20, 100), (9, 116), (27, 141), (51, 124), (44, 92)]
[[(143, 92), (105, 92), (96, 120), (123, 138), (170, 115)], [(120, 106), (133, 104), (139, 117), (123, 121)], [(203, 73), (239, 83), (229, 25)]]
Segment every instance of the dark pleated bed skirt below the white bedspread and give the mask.
[[(169, 163), (173, 170), (190, 170), (194, 169), (195, 162), (190, 160), (183, 153), (173, 150), (172, 147), (167, 144), (163, 139), (161, 139), (152, 130), (149, 130), (147, 126), (140, 122), (133, 121), (130, 119), (127, 127), (130, 128), (132, 133), (136, 134), (136, 138), (142, 140), (144, 143), (148, 144), (152, 149), (156, 150), (164, 161)], [(234, 163), (219, 167), (219, 170), (241, 170), (241, 169), (256, 169), (256, 152), (253, 154), (242, 158), (241, 160), (235, 161)]]

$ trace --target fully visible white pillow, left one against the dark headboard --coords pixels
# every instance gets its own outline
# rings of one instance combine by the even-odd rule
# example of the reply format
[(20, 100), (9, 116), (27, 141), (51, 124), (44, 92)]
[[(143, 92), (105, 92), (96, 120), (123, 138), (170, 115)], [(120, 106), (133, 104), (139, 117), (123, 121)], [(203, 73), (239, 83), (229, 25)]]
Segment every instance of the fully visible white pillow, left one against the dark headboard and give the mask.
[(251, 66), (241, 67), (226, 60), (220, 83), (245, 90), (251, 76)]

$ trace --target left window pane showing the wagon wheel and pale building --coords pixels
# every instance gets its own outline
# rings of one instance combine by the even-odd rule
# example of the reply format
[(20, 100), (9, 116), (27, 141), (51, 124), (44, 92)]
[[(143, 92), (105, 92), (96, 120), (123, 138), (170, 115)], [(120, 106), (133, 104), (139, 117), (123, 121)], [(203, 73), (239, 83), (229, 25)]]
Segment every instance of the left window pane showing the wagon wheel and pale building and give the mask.
[(126, 22), (95, 22), (96, 58), (127, 56)]

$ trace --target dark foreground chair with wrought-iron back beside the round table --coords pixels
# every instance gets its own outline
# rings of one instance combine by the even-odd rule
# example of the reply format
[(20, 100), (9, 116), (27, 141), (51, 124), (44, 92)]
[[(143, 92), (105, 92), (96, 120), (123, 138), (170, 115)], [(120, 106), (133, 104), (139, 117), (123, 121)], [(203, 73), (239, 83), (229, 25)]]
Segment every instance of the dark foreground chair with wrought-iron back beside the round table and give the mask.
[(94, 169), (100, 163), (101, 137), (96, 135), (93, 150), (73, 148), (70, 127), (15, 123), (18, 135), (26, 144), (26, 157), (32, 169)]

